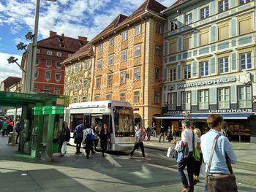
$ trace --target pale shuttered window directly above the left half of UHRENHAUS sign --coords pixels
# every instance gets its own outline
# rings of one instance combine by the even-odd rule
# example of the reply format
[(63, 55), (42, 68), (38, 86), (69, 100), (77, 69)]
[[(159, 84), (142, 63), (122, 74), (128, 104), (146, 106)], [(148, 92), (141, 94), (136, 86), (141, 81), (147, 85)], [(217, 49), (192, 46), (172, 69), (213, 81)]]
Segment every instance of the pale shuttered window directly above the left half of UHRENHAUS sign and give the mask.
[(230, 88), (218, 88), (218, 109), (230, 109)]

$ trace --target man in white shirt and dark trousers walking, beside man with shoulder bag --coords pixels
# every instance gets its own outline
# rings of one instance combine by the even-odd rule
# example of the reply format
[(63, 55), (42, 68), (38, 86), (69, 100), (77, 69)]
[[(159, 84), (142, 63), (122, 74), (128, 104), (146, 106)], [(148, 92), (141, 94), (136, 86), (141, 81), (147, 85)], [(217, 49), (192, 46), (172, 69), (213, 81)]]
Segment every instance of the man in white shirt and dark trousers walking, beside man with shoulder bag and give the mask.
[[(181, 121), (182, 132), (181, 132), (181, 142), (182, 145), (188, 146), (189, 155), (187, 158), (183, 158), (180, 163), (178, 163), (178, 174), (181, 177), (181, 182), (183, 189), (181, 192), (194, 191), (194, 158), (193, 158), (193, 132), (189, 129), (189, 120)], [(187, 177), (184, 174), (184, 169), (187, 166), (187, 175), (189, 177), (189, 183), (187, 182)]]

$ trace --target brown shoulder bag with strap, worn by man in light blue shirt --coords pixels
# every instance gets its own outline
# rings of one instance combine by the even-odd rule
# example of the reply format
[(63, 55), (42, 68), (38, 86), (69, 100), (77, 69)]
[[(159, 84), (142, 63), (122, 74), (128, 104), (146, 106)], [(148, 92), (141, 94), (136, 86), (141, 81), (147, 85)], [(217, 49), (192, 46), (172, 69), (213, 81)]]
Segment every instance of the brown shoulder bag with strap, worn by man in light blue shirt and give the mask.
[(206, 182), (208, 184), (209, 192), (237, 192), (236, 177), (234, 174), (219, 174), (218, 176), (211, 175), (211, 161), (214, 156), (214, 150), (217, 145), (217, 139), (220, 135), (214, 138), (214, 144), (211, 148), (211, 155), (209, 159), (208, 169), (206, 172)]

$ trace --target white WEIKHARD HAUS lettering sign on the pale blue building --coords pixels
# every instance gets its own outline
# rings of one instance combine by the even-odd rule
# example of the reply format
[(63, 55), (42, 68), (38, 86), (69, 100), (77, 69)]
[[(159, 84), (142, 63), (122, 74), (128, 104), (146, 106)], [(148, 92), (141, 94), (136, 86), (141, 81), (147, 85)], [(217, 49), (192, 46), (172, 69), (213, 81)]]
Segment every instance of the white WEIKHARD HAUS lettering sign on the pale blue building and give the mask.
[(191, 83), (184, 83), (184, 84), (178, 84), (177, 87), (179, 88), (193, 88), (193, 87), (199, 87), (199, 86), (205, 86), (205, 85), (216, 85), (226, 82), (236, 82), (236, 77), (230, 77), (230, 78), (223, 78), (219, 80), (207, 80), (203, 82), (191, 82)]

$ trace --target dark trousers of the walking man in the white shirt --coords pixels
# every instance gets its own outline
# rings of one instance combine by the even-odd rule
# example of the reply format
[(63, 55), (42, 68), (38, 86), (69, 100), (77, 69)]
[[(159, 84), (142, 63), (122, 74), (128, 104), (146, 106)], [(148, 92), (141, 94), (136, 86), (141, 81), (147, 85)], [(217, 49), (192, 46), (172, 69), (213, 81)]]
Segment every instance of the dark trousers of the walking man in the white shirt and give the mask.
[[(194, 158), (192, 156), (193, 152), (189, 152), (189, 157), (184, 158), (181, 163), (178, 163), (178, 174), (181, 177), (181, 182), (184, 188), (190, 188), (190, 191), (194, 191)], [(184, 174), (184, 169), (187, 166), (187, 175), (189, 176), (189, 183), (187, 182), (187, 177)], [(190, 192), (189, 191), (189, 192)]]

